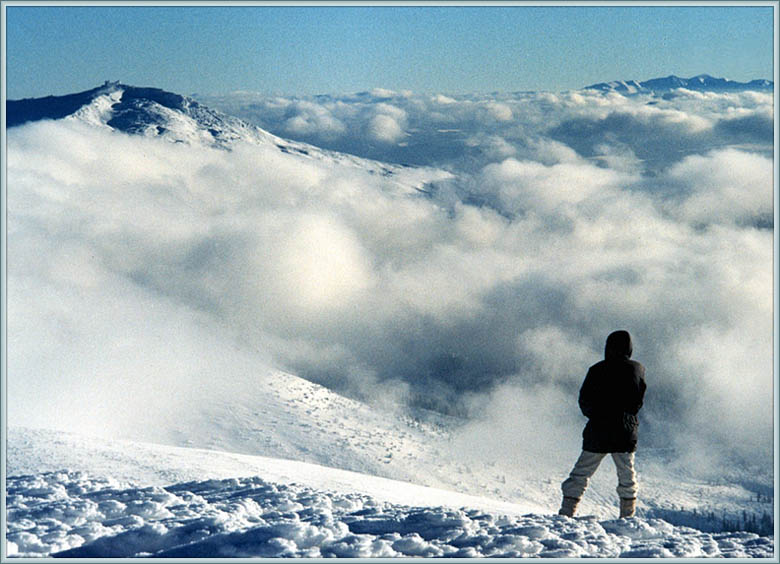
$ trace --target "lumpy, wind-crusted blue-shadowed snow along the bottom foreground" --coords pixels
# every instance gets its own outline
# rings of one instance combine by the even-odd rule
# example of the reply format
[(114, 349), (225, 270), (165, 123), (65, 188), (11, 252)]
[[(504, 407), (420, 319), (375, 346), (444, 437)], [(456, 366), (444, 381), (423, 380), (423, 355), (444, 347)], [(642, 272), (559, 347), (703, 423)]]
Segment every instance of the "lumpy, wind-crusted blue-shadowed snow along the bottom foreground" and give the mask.
[(410, 507), (260, 477), (139, 487), (74, 472), (8, 479), (9, 556), (767, 557), (771, 537), (659, 519)]

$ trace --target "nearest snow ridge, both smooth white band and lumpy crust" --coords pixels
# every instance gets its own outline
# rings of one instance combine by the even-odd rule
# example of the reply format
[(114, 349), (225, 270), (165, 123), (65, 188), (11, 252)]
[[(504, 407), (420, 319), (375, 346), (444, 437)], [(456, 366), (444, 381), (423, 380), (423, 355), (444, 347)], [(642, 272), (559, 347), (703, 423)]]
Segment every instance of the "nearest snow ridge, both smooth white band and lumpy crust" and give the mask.
[[(73, 471), (10, 477), (9, 556), (642, 558), (774, 552), (771, 537), (754, 533), (705, 533), (654, 518), (522, 514), (521, 506), (498, 507), (489, 499), (423, 487), (409, 491), (407, 484), (294, 461), (14, 434), (12, 445), (28, 448), (12, 449), (12, 474), (22, 461), (34, 465), (35, 456), (78, 445), (80, 456), (89, 456), (87, 464), (110, 467), (114, 475), (144, 475), (147, 485)], [(233, 477), (217, 477), (221, 473)], [(200, 477), (189, 481), (187, 474)], [(165, 478), (176, 483), (159, 485)], [(404, 497), (407, 502), (399, 503)]]

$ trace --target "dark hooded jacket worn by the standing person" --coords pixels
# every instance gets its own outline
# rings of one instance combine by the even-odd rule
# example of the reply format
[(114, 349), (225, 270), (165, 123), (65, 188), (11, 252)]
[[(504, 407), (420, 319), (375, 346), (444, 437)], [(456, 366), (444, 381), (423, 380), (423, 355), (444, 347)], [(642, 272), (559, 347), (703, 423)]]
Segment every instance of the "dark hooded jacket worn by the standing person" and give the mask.
[(631, 359), (627, 331), (607, 337), (604, 360), (590, 367), (580, 389), (580, 409), (588, 418), (582, 449), (590, 452), (634, 452), (645, 396), (645, 368)]

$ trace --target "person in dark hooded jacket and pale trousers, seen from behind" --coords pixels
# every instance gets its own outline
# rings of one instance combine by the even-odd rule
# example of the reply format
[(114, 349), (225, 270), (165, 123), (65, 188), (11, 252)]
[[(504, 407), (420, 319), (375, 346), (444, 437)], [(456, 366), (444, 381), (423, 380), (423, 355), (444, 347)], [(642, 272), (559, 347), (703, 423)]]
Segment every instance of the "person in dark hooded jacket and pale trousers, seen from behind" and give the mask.
[(647, 386), (645, 368), (631, 360), (632, 352), (628, 331), (615, 331), (607, 337), (604, 360), (588, 370), (579, 396), (580, 409), (588, 418), (582, 432), (582, 454), (561, 484), (563, 502), (559, 515), (574, 515), (591, 476), (604, 457), (611, 454), (617, 468), (620, 517), (634, 516), (637, 414), (642, 408)]

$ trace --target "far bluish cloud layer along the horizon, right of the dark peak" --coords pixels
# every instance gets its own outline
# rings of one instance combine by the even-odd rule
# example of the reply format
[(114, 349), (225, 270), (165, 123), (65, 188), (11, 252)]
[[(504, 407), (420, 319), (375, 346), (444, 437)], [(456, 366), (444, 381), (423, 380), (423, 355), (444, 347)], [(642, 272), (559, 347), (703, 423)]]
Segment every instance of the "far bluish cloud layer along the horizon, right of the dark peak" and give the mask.
[(354, 95), (268, 97), (248, 92), (204, 102), (283, 137), (379, 160), (468, 170), (508, 156), (539, 160), (557, 141), (613, 168), (657, 173), (693, 154), (740, 145), (771, 155), (771, 92), (622, 96), (421, 95), (376, 89)]

